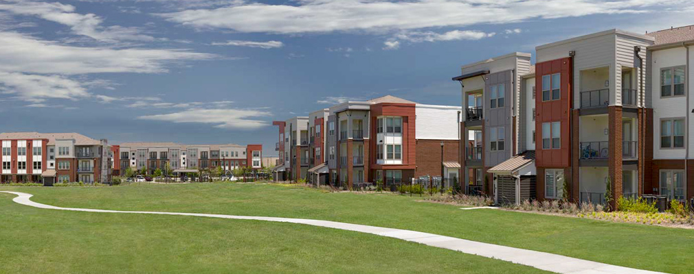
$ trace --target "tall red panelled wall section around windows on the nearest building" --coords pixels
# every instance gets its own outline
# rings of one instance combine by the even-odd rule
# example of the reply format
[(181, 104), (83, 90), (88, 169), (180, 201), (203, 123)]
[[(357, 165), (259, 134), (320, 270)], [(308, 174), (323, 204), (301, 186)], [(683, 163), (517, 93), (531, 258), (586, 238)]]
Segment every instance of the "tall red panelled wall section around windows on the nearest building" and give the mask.
[[(535, 96), (536, 104), (536, 165), (538, 167), (568, 167), (570, 166), (570, 139), (568, 138), (570, 129), (570, 106), (571, 106), (571, 59), (570, 57), (541, 62), (535, 65), (536, 80), (535, 86), (538, 87)], [(561, 95), (560, 100), (548, 102), (542, 101), (541, 86), (542, 76), (561, 73)], [(542, 123), (561, 122), (561, 145), (560, 149), (542, 149)], [(539, 173), (538, 173), (539, 174)], [(539, 185), (539, 184), (538, 184)]]

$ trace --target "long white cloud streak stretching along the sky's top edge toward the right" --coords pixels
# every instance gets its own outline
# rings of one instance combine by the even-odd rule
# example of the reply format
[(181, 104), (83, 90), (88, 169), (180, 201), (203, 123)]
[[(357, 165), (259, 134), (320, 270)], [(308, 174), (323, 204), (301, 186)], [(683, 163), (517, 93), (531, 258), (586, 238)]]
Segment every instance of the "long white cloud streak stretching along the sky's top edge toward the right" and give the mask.
[(296, 5), (237, 1), (221, 8), (157, 14), (194, 28), (242, 33), (330, 33), (507, 24), (530, 19), (654, 12), (684, 0), (299, 0)]

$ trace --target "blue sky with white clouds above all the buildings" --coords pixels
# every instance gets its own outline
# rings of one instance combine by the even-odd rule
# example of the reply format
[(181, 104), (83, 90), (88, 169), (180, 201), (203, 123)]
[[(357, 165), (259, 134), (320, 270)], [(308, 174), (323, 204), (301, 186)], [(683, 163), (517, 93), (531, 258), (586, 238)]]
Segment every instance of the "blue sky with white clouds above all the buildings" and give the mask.
[(0, 131), (276, 154), (272, 120), (387, 94), (458, 105), (462, 64), (694, 23), (659, 2), (0, 0)]

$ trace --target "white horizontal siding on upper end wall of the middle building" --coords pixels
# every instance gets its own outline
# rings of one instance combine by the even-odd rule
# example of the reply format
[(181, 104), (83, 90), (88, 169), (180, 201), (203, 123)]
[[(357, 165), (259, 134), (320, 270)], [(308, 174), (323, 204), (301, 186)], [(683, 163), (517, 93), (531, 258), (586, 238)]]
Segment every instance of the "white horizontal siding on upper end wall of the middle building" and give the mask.
[(416, 105), (416, 138), (459, 140), (459, 112), (462, 108)]

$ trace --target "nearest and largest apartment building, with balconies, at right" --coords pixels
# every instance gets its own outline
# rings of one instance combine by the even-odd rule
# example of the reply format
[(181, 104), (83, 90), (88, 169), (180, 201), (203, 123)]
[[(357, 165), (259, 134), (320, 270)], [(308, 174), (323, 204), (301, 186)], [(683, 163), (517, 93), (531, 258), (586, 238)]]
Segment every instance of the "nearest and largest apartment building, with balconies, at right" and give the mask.
[(534, 66), (530, 53), (462, 66), (466, 191), (500, 203), (604, 203), (608, 184), (613, 200), (694, 197), (692, 44), (689, 26), (606, 30), (537, 46)]

